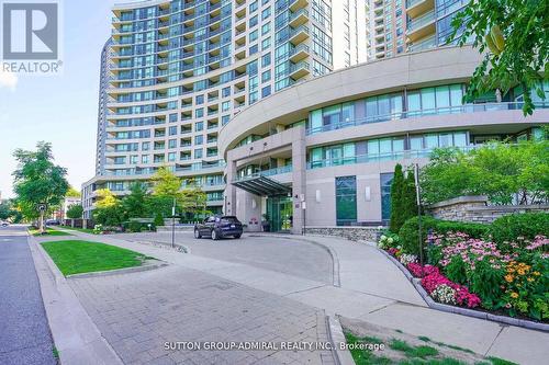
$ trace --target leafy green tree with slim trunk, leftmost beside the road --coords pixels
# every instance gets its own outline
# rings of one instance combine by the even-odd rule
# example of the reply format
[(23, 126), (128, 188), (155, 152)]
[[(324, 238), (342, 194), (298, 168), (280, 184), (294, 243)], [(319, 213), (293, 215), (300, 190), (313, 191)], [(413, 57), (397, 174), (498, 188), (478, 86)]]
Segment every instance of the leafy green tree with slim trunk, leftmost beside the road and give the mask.
[(40, 229), (44, 232), (45, 212), (38, 210), (38, 206), (59, 205), (69, 189), (65, 178), (67, 170), (54, 163), (52, 144), (48, 142), (37, 142), (35, 151), (16, 149), (13, 156), (18, 161), (12, 173), (18, 205), (27, 219), (41, 218)]

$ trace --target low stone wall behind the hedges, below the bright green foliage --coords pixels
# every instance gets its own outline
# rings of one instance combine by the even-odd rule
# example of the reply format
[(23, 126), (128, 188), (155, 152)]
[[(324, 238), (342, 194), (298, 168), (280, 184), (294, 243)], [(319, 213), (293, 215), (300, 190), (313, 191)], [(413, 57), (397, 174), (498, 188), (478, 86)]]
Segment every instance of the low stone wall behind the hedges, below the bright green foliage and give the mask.
[(549, 205), (488, 205), (486, 196), (459, 196), (427, 206), (435, 218), (491, 224), (496, 218), (526, 212), (549, 212)]

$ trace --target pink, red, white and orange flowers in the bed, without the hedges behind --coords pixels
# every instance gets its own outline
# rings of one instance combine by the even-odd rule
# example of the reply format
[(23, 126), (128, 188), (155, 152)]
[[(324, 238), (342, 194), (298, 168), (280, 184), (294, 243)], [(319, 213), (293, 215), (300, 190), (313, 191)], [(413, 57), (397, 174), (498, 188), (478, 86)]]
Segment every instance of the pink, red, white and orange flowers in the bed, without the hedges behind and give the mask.
[[(391, 239), (389, 239), (391, 238)], [(549, 239), (496, 243), (463, 232), (432, 232), (425, 261), (405, 252), (395, 235), (379, 248), (399, 260), (438, 303), (549, 321)]]

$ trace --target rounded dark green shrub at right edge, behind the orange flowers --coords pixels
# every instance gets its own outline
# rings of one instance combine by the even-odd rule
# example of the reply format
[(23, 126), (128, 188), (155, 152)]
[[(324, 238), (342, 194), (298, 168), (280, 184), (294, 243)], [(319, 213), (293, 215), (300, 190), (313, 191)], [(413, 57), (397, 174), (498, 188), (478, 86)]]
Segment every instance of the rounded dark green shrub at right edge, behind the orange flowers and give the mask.
[(494, 220), (490, 232), (501, 249), (511, 248), (504, 242), (516, 241), (517, 238), (534, 239), (538, 235), (549, 237), (549, 213), (512, 214)]

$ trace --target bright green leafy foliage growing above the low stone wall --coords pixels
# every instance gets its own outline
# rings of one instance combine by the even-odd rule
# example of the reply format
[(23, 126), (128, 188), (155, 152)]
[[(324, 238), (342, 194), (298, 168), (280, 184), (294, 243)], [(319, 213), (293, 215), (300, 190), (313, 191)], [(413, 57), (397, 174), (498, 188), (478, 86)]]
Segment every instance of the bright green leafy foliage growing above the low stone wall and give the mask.
[(492, 203), (547, 202), (549, 141), (490, 142), (469, 152), (438, 149), (422, 169), (422, 198), (433, 204), (460, 195), (486, 195)]

